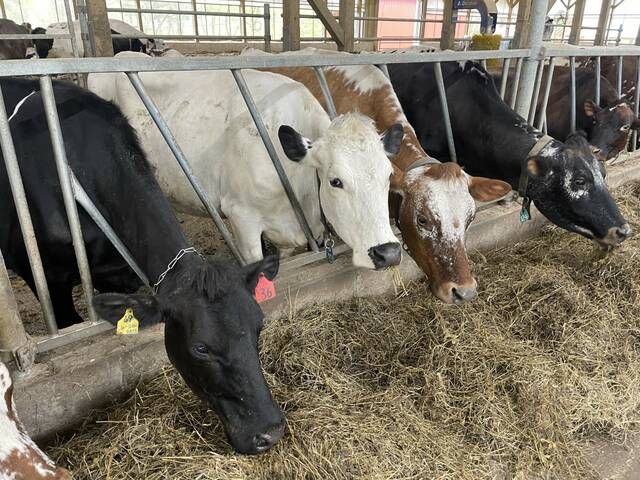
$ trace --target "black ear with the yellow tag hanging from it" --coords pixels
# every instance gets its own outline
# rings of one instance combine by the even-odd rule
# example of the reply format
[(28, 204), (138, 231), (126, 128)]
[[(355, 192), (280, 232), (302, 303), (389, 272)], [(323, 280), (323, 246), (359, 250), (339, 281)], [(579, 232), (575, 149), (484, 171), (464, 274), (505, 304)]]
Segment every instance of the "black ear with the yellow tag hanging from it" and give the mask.
[(118, 323), (128, 308), (133, 310), (133, 316), (138, 319), (141, 328), (163, 321), (160, 302), (152, 295), (101, 293), (93, 297), (93, 308), (100, 318), (113, 325)]

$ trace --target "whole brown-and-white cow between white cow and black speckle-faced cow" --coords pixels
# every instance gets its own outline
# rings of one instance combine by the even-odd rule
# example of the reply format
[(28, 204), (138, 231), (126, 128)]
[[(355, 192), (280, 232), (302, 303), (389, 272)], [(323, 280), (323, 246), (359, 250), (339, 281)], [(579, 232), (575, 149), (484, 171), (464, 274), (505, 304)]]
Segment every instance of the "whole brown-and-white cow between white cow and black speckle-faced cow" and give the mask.
[[(291, 54), (309, 55), (308, 48)], [(323, 53), (326, 53), (323, 51)], [(243, 55), (264, 54), (246, 49)], [(347, 54), (343, 54), (347, 55)], [(315, 72), (311, 68), (270, 71), (304, 84), (326, 108)], [(389, 79), (373, 65), (327, 67), (324, 73), (338, 114), (360, 111), (373, 118), (379, 132), (400, 123), (404, 138), (392, 158), (391, 216), (402, 232), (409, 253), (428, 277), (431, 291), (447, 303), (475, 298), (476, 280), (465, 250), (465, 231), (476, 212), (475, 201), (492, 201), (506, 195), (506, 182), (471, 177), (455, 163), (440, 163), (420, 146)]]

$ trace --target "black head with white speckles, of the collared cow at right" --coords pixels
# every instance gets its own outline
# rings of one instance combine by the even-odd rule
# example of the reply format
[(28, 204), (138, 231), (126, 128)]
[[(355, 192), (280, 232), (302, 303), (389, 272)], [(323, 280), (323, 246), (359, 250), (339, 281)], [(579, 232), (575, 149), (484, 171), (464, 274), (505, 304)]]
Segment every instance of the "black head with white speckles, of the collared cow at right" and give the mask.
[(527, 162), (527, 195), (553, 223), (604, 247), (623, 242), (631, 227), (607, 188), (604, 165), (580, 133), (551, 142)]

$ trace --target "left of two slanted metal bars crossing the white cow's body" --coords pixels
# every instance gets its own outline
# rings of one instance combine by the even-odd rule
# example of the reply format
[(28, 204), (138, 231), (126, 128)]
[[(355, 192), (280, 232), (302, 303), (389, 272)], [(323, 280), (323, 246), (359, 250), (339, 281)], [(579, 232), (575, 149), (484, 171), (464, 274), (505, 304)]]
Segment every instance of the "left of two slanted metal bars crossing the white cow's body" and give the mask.
[(151, 118), (153, 119), (156, 126), (158, 127), (158, 130), (160, 130), (160, 134), (164, 138), (164, 141), (167, 142), (167, 146), (173, 153), (173, 156), (178, 161), (180, 168), (182, 168), (182, 171), (187, 176), (189, 183), (191, 183), (191, 186), (195, 190), (196, 195), (198, 195), (198, 198), (202, 202), (202, 205), (204, 205), (204, 208), (207, 210), (207, 212), (211, 216), (213, 223), (215, 223), (216, 227), (218, 227), (218, 230), (222, 234), (222, 238), (224, 238), (224, 241), (229, 246), (231, 253), (233, 253), (233, 256), (236, 258), (236, 260), (238, 260), (238, 262), (240, 262), (241, 265), (245, 265), (246, 262), (244, 258), (242, 258), (240, 251), (236, 247), (236, 244), (233, 241), (233, 237), (231, 236), (231, 232), (229, 232), (229, 229), (227, 228), (224, 221), (222, 220), (222, 217), (218, 213), (218, 210), (216, 209), (215, 205), (213, 205), (213, 203), (209, 199), (207, 192), (205, 192), (204, 188), (202, 188), (202, 186), (200, 185), (200, 182), (198, 181), (195, 174), (193, 173), (193, 170), (191, 170), (191, 166), (189, 165), (189, 162), (187, 161), (187, 158), (185, 157), (184, 152), (180, 148), (180, 145), (178, 145), (176, 138), (173, 136), (173, 132), (171, 132), (169, 125), (167, 125), (166, 120), (163, 118), (162, 114), (160, 113), (160, 110), (158, 110), (158, 107), (156, 106), (155, 102), (147, 93), (147, 89), (144, 87), (144, 84), (140, 80), (140, 77), (135, 72), (129, 72), (127, 73), (127, 76), (129, 77), (129, 81), (131, 82), (131, 85), (133, 85), (133, 88), (138, 93), (140, 100), (142, 100), (142, 103), (144, 103), (144, 106), (149, 112), (149, 115), (151, 115)]

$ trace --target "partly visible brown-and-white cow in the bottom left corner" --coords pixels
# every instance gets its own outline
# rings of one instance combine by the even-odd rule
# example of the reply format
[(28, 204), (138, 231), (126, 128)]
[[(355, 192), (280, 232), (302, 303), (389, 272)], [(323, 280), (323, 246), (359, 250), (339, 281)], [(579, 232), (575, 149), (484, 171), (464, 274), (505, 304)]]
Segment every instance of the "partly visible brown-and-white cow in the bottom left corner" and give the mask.
[(71, 475), (56, 467), (38, 448), (18, 418), (13, 404), (13, 383), (0, 362), (0, 479), (68, 480)]

